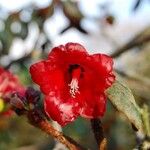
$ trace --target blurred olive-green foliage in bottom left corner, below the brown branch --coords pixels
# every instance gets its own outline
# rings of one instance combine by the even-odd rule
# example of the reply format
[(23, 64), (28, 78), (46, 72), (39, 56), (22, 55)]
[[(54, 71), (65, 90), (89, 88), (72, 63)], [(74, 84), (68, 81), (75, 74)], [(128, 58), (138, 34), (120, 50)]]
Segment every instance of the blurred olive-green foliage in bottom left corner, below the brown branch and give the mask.
[[(0, 130), (0, 150), (17, 150), (19, 147), (31, 145), (34, 146), (33, 149), (43, 150), (46, 146), (53, 146), (51, 137), (32, 127), (24, 118), (1, 118), (1, 122), (3, 128)], [(2, 126), (2, 123), (0, 125)]]

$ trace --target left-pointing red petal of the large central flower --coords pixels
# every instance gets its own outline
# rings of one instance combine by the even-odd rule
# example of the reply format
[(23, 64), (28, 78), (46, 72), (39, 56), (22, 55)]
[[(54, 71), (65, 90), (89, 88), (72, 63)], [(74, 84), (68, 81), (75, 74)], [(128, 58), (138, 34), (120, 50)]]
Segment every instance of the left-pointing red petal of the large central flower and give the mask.
[(64, 87), (64, 74), (51, 61), (41, 61), (30, 67), (33, 81), (40, 85), (44, 94)]

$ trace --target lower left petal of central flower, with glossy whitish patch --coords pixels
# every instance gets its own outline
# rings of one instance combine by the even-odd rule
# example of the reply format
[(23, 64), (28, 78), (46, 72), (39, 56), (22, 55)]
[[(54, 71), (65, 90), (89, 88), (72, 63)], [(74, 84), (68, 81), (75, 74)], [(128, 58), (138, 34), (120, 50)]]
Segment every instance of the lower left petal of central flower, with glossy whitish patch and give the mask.
[(46, 96), (44, 109), (50, 118), (57, 121), (60, 125), (65, 126), (77, 118), (79, 115), (79, 107), (78, 103), (73, 100), (66, 103), (63, 103), (62, 101), (63, 100), (56, 95)]

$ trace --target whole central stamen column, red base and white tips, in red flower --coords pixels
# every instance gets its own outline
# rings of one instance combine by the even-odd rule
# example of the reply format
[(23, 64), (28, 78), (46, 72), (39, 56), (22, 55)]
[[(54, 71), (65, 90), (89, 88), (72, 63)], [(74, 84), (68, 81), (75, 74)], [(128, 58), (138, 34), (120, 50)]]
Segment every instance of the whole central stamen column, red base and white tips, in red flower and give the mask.
[(76, 93), (80, 93), (78, 83), (81, 75), (81, 68), (80, 67), (73, 68), (71, 71), (71, 75), (72, 75), (72, 80), (68, 86), (70, 87), (71, 96), (75, 98)]

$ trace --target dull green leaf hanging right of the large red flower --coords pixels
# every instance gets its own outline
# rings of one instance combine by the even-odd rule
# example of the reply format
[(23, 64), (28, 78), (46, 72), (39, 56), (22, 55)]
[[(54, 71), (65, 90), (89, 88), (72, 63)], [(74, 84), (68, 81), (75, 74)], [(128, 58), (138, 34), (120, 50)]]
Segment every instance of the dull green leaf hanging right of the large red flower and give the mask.
[(143, 131), (141, 109), (127, 86), (116, 81), (106, 90), (106, 95), (118, 111), (124, 113), (138, 130)]

